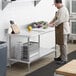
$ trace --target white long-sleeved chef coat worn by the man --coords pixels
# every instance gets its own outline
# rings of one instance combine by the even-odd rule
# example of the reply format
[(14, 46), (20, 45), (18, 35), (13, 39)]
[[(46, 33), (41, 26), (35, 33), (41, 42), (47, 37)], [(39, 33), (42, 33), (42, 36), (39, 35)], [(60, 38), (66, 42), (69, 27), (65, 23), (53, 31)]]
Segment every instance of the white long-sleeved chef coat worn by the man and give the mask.
[(69, 25), (69, 12), (66, 7), (62, 6), (56, 12), (56, 19), (54, 21), (56, 27), (63, 23), (64, 34), (70, 33), (70, 25)]

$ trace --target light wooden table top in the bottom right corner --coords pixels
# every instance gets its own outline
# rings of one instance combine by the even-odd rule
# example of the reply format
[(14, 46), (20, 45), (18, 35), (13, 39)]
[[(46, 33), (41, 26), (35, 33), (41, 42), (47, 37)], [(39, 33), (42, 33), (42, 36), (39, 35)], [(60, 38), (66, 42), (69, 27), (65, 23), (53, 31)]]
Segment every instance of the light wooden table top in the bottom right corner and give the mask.
[(76, 76), (76, 59), (56, 69), (56, 73), (65, 76)]

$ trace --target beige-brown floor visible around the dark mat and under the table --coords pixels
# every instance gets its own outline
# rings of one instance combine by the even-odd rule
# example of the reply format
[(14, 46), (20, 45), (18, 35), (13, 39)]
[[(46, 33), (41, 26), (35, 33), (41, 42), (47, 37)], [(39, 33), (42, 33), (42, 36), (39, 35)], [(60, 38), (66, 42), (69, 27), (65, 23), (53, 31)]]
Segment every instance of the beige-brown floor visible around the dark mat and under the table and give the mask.
[[(69, 48), (68, 53), (70, 53), (70, 52), (76, 50), (76, 44), (69, 43), (68, 48)], [(57, 52), (57, 53), (59, 55), (59, 52)], [(36, 62), (33, 62), (31, 64), (30, 72), (33, 72), (34, 70), (37, 70), (37, 69), (41, 68), (42, 66), (47, 65), (48, 63), (50, 63), (53, 60), (53, 58), (54, 58), (54, 53), (36, 61)], [(11, 68), (7, 68), (7, 76), (25, 76), (27, 73), (28, 73), (27, 64), (16, 63), (16, 64), (12, 65)]]

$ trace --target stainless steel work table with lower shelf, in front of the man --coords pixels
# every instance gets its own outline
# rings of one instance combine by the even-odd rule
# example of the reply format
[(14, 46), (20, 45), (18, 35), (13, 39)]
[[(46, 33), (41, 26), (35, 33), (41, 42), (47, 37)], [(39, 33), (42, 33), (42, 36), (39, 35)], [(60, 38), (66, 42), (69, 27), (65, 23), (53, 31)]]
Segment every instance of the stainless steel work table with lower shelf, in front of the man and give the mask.
[[(46, 37), (45, 34), (47, 34), (48, 37), (51, 37), (51, 38)], [(38, 49), (32, 55), (30, 55), (30, 51), (28, 51), (28, 61), (11, 57), (11, 55), (12, 55), (12, 42), (11, 41), (12, 41), (12, 37), (14, 38), (14, 36), (16, 36), (16, 37), (21, 36), (21, 37), (27, 38), (28, 46), (30, 44), (31, 38), (38, 37), (38, 41), (37, 41), (38, 42)], [(42, 48), (41, 47), (42, 45), (40, 44), (40, 42), (42, 42), (43, 39), (40, 37), (42, 37), (42, 38), (46, 37), (45, 40), (52, 39), (51, 41), (48, 41), (48, 40), (43, 41), (43, 42), (50, 42), (51, 48), (49, 48), (49, 47), (48, 47), (48, 49)], [(13, 42), (15, 42), (15, 40)], [(44, 50), (46, 50), (46, 51), (44, 51)], [(11, 65), (11, 61), (27, 63), (28, 70), (30, 71), (30, 63), (31, 62), (36, 61), (36, 60), (42, 58), (43, 56), (48, 55), (52, 52), (55, 52), (55, 28), (54, 27), (48, 27), (47, 29), (34, 28), (31, 32), (28, 32), (27, 30), (25, 30), (25, 31), (20, 31), (19, 34), (9, 34), (9, 61), (10, 61), (10, 65)]]

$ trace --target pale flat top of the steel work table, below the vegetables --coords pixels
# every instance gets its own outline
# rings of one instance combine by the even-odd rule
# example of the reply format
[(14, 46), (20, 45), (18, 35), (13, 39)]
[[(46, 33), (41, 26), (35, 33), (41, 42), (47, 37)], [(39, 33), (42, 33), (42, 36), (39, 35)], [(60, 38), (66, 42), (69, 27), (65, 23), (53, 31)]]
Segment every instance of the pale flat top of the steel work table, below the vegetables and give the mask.
[(19, 34), (10, 34), (10, 35), (20, 35), (20, 36), (26, 36), (26, 37), (33, 37), (33, 36), (38, 36), (38, 35), (41, 35), (44, 33), (52, 32), (54, 30), (55, 30), (55, 28), (53, 28), (53, 27), (48, 27), (47, 29), (34, 28), (30, 32), (28, 32), (27, 30), (22, 30), (22, 31), (20, 31)]

